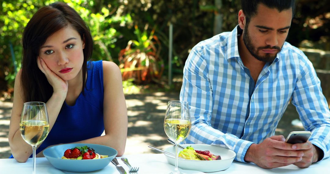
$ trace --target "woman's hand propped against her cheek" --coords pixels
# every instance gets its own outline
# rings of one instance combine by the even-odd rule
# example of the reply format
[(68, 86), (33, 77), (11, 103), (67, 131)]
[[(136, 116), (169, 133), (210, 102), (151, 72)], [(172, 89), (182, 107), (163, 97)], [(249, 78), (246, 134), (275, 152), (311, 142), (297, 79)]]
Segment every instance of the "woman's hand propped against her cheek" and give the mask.
[(43, 72), (49, 84), (53, 87), (54, 93), (65, 94), (68, 92), (68, 81), (64, 81), (61, 77), (52, 72), (45, 61), (38, 56), (37, 64), (41, 72)]

